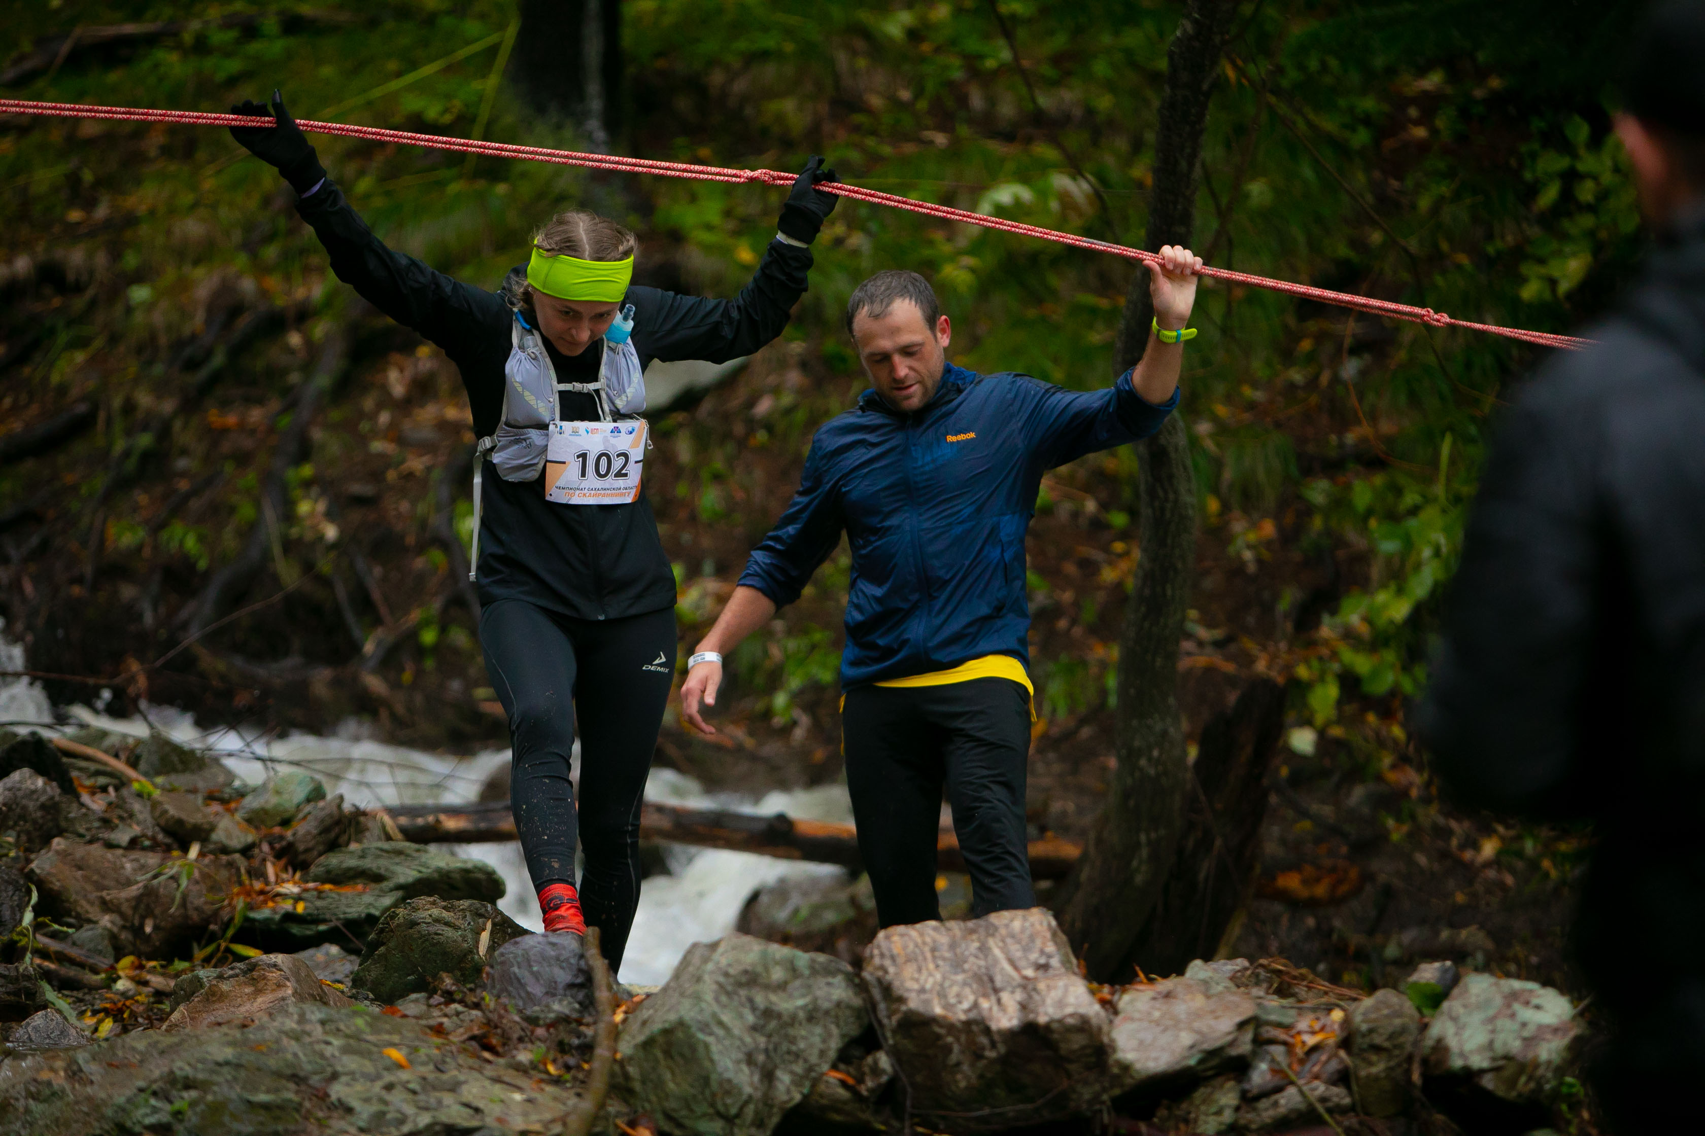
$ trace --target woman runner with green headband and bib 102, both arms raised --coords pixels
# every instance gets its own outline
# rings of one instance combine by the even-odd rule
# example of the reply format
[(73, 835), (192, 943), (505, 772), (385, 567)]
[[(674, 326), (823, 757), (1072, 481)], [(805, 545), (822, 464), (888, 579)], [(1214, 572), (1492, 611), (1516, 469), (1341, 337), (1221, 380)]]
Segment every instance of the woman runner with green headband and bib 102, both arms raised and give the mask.
[[(554, 216), (527, 267), (486, 291), (387, 249), (276, 90), (271, 107), (244, 102), (232, 112), (266, 119), (230, 133), (297, 191), (297, 213), (338, 279), (462, 371), (483, 439), (479, 640), (510, 720), (515, 828), (546, 930), (597, 927), (616, 971), (639, 903), (639, 804), (675, 674), (675, 577), (636, 477), (639, 373), (651, 359), (721, 363), (781, 334), (806, 290), (810, 244), (835, 208), (834, 194), (815, 189), (834, 170), (818, 157), (805, 167), (737, 300), (631, 286), (634, 235), (585, 209)], [(578, 889), (576, 710), (587, 853)]]

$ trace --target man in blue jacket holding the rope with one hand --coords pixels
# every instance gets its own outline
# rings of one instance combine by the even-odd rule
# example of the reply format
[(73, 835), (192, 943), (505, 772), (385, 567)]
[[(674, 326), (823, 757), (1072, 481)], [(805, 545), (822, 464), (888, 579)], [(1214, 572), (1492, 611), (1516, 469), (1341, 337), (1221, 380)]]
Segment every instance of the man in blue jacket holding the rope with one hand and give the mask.
[(1025, 530), (1042, 473), (1146, 438), (1178, 404), (1195, 271), (1149, 266), (1154, 327), (1108, 390), (946, 361), (951, 324), (917, 273), (878, 273), (847, 301), (875, 390), (812, 439), (793, 502), (687, 663), (682, 717), (711, 734), (723, 654), (793, 603), (846, 530), (842, 743), (859, 853), (883, 927), (941, 918), (936, 828), (946, 789), (972, 911), (1035, 906), (1025, 838), (1030, 605)]

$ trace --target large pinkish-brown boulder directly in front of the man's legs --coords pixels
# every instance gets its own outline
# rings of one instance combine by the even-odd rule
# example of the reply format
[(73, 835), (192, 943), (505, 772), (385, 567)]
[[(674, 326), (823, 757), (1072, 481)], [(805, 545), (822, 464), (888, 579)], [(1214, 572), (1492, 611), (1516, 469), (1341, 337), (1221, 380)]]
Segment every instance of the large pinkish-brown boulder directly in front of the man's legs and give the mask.
[(1107, 1013), (1042, 908), (890, 927), (864, 952), (864, 984), (912, 1114), (933, 1127), (991, 1110), (1033, 1124), (1108, 1095)]

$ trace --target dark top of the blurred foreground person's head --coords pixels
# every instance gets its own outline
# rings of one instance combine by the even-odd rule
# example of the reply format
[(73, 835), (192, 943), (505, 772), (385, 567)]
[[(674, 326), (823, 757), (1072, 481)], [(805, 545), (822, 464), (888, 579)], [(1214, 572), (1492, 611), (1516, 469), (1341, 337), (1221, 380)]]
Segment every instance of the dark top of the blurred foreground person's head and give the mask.
[(1628, 37), (1623, 107), (1656, 128), (1681, 174), (1705, 187), (1705, 2), (1654, 7)]

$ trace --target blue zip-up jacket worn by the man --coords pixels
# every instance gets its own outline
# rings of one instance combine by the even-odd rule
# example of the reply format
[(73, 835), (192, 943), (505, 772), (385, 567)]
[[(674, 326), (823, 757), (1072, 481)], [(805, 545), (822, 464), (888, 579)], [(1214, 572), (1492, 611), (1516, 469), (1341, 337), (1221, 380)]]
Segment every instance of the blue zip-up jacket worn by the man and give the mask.
[(800, 489), (740, 582), (786, 606), (846, 530), (842, 690), (985, 654), (1028, 666), (1025, 530), (1042, 473), (1147, 438), (1175, 405), (1176, 390), (1165, 405), (1146, 402), (1130, 371), (1107, 390), (1072, 392), (950, 363), (912, 414), (866, 390), (812, 438)]

